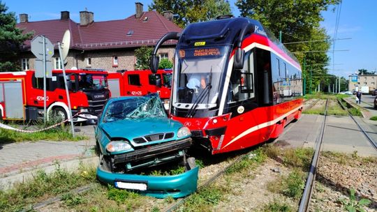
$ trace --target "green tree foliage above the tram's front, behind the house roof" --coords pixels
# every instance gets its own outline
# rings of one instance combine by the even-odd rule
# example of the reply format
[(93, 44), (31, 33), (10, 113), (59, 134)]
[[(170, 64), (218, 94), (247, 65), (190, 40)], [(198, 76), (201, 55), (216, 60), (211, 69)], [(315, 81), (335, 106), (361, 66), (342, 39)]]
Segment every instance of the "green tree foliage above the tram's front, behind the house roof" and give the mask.
[(226, 0), (154, 0), (149, 10), (158, 13), (171, 10), (175, 14), (175, 24), (182, 28), (190, 23), (212, 20), (219, 15), (232, 15), (229, 1)]

